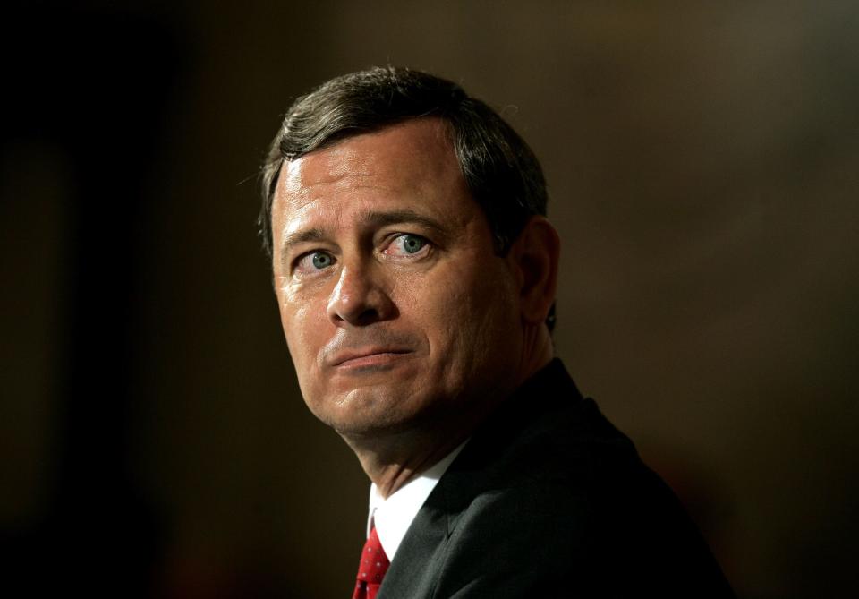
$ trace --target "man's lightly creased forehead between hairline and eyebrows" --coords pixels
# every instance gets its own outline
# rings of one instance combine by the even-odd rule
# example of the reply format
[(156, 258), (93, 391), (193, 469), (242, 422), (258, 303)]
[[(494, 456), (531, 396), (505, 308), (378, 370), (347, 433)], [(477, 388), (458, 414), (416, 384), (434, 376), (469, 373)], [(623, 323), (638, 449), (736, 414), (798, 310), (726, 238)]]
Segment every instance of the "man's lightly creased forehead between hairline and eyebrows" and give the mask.
[(286, 161), (272, 215), (283, 225), (308, 211), (377, 210), (397, 202), (434, 212), (477, 208), (442, 120), (395, 124)]

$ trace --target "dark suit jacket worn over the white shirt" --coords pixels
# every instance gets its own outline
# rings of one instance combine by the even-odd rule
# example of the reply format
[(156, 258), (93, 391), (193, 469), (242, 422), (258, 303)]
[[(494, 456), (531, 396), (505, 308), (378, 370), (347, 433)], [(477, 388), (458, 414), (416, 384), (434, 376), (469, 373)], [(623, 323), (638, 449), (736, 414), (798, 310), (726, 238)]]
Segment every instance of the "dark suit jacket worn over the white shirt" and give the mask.
[(475, 432), (378, 599), (731, 597), (676, 496), (557, 360)]

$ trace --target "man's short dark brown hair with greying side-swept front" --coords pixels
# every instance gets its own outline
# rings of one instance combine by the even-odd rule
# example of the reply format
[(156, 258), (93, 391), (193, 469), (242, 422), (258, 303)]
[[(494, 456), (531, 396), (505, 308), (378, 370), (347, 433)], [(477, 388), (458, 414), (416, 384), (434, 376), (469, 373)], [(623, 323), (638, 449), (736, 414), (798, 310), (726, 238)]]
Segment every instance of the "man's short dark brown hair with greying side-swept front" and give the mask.
[[(286, 111), (262, 166), (259, 234), (271, 256), (271, 204), (284, 161), (361, 133), (435, 116), (447, 123), (459, 167), (486, 214), (496, 251), (506, 252), (535, 214), (546, 215), (546, 180), (528, 144), (498, 113), (453, 81), (394, 66), (323, 83)], [(547, 321), (554, 323), (554, 306)]]

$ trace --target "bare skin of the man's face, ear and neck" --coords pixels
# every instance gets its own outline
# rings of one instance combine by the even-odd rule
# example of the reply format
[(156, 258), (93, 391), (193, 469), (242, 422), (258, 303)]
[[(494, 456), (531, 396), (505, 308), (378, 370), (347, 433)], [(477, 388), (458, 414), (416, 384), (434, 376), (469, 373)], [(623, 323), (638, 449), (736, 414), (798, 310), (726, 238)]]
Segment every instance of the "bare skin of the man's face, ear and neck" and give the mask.
[(285, 162), (272, 228), (304, 400), (383, 496), (551, 359), (557, 233), (534, 217), (498, 256), (438, 119)]

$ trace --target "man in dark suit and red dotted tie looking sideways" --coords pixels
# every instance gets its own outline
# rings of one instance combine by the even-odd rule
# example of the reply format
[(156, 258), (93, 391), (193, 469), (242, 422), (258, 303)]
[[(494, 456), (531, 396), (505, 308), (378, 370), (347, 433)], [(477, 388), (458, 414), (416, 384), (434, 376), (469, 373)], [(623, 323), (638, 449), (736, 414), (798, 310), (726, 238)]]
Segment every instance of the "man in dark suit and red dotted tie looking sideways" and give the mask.
[(355, 597), (731, 596), (550, 336), (537, 159), (454, 83), (376, 68), (285, 116), (260, 225), (314, 415), (372, 482)]

